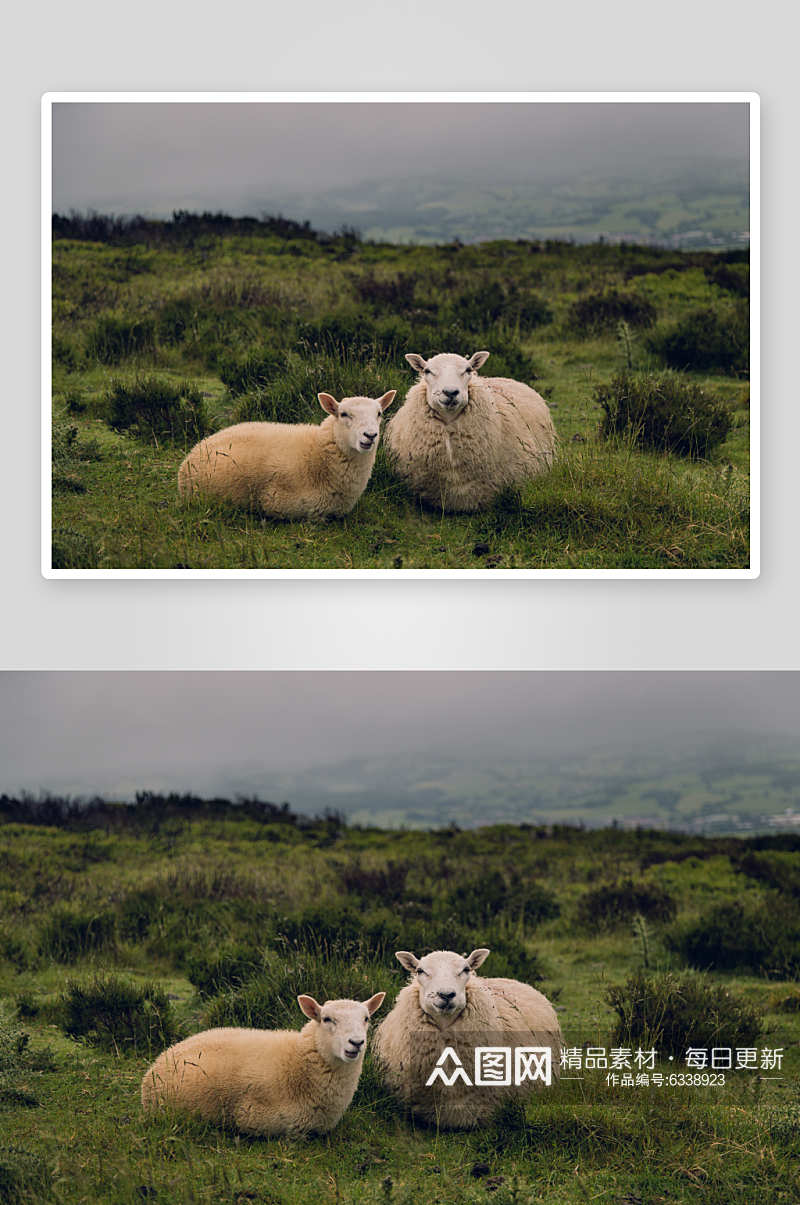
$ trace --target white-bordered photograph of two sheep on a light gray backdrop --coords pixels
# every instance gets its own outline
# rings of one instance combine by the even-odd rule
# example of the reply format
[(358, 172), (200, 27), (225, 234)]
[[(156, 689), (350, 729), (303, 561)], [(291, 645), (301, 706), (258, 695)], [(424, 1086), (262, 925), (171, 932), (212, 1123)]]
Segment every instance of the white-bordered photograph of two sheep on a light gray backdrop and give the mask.
[(753, 578), (752, 93), (51, 93), (46, 577)]

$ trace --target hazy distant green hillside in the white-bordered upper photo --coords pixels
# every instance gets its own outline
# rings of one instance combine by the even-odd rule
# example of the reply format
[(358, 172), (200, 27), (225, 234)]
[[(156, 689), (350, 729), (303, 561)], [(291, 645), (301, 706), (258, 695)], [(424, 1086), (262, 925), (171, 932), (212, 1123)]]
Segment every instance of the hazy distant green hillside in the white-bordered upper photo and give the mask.
[[(675, 247), (746, 246), (749, 164), (666, 159), (558, 180), (517, 183), (429, 177), (377, 181), (271, 199), (327, 230), (351, 225), (365, 239), (443, 242), (460, 239), (604, 236)], [(747, 237), (742, 237), (747, 233)]]

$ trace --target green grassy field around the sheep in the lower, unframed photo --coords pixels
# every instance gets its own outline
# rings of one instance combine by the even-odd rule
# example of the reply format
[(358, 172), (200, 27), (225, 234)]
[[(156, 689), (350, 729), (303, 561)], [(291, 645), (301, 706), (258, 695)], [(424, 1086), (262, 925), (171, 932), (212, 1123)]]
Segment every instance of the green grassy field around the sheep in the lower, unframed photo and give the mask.
[[(334, 813), (301, 825), (247, 801), (151, 797), (83, 815), (25, 806), (0, 800), (4, 1201), (800, 1197), (796, 837), (392, 833)], [(324, 1138), (243, 1139), (142, 1116), (139, 1086), (161, 1029), (300, 1028), (300, 991), (386, 991), (386, 1012), (405, 981), (394, 950), (439, 946), (492, 948), (483, 974), (537, 984), (573, 1052), (652, 1046), (649, 1083), (607, 1083), (583, 1066), (478, 1131), (445, 1133), (414, 1125), (367, 1057), (353, 1105)], [(108, 995), (114, 978), (165, 993), (142, 1012), (136, 1045), (133, 1012), (112, 1010), (94, 1031), (75, 1019), (77, 988)], [(663, 989), (648, 1033), (630, 1017), (614, 1028), (610, 988), (628, 1007), (642, 984), (665, 982), (678, 995), (670, 1005)], [(724, 1084), (670, 1083), (686, 1072), (686, 1045), (753, 1048), (757, 1063)], [(781, 1052), (780, 1068), (761, 1066), (765, 1050)]]

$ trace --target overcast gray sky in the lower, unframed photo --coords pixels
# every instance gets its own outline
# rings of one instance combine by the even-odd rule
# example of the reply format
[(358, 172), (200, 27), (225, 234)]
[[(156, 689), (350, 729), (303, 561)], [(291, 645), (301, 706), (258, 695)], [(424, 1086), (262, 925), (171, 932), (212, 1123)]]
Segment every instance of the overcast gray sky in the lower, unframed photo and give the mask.
[(225, 792), (408, 751), (800, 736), (800, 672), (0, 672), (0, 792)]

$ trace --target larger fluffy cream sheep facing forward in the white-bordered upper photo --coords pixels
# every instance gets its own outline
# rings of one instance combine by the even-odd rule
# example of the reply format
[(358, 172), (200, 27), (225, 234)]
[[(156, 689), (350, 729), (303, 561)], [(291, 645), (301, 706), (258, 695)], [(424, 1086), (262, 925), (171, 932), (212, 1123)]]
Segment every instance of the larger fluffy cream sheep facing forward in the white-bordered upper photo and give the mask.
[(420, 378), (389, 423), (387, 448), (395, 474), (443, 511), (477, 511), (553, 463), (547, 402), (519, 381), (478, 377), (488, 358), (406, 355)]

